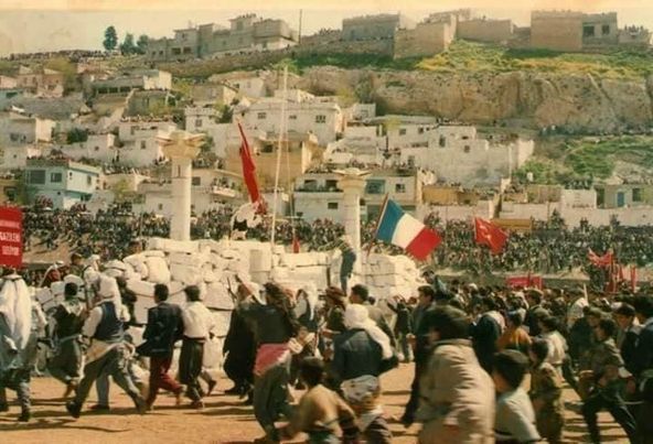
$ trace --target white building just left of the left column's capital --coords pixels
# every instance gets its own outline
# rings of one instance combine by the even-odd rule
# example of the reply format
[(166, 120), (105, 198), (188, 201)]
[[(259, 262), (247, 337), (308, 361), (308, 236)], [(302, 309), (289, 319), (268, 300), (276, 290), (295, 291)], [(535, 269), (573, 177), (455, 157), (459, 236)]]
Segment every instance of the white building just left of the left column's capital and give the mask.
[(170, 121), (121, 121), (118, 138), (122, 147), (116, 160), (125, 165), (148, 166), (164, 159), (158, 137), (167, 137), (176, 129)]

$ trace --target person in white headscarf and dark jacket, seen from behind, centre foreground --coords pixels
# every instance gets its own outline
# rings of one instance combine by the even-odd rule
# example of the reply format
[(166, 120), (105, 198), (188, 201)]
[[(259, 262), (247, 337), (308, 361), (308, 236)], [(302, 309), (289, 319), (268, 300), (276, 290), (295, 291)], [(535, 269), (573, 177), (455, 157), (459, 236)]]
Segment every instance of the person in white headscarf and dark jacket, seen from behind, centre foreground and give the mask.
[(344, 325), (346, 332), (334, 338), (331, 370), (342, 381), (344, 399), (358, 416), (358, 429), (367, 442), (390, 443), (393, 436), (377, 402), (383, 360), (393, 357), (390, 340), (364, 305), (347, 305)]

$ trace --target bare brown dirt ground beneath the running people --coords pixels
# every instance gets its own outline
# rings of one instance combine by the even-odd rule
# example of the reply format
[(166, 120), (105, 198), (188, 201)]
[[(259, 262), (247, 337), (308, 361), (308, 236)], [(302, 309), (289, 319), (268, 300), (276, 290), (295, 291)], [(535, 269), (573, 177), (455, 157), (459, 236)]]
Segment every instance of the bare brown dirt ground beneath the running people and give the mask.
[[(408, 399), (413, 366), (402, 365), (383, 378), (383, 403), (395, 438), (394, 443), (415, 443), (419, 425), (405, 430), (394, 418), (399, 418)], [(12, 402), (9, 413), (0, 413), (0, 443), (250, 443), (261, 435), (251, 408), (243, 405), (236, 397), (222, 394), (231, 381), (221, 379), (205, 409), (194, 411), (174, 407), (171, 396), (162, 394), (156, 410), (143, 416), (135, 413), (131, 401), (121, 390), (111, 387), (111, 411), (96, 414), (85, 411), (79, 420), (71, 418), (61, 400), (64, 387), (52, 378), (32, 380), (33, 413), (29, 424), (15, 421), (20, 409)], [(301, 396), (300, 392), (297, 396)], [(9, 392), (9, 398), (14, 399)], [(576, 401), (571, 390), (565, 398)], [(95, 390), (86, 407), (95, 403)], [(621, 429), (606, 414), (600, 415), (603, 442), (628, 442)], [(582, 419), (570, 410), (567, 415), (566, 440), (585, 442)], [(296, 443), (301, 440), (296, 440)]]

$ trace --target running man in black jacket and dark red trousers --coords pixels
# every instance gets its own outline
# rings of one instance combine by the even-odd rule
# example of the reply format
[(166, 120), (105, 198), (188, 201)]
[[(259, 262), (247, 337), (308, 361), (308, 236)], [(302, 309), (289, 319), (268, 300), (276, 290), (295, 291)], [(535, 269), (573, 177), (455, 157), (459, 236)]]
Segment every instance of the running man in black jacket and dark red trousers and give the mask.
[(150, 357), (150, 393), (147, 405), (150, 410), (159, 389), (171, 391), (176, 397), (176, 403), (181, 402), (182, 387), (170, 377), (168, 370), (172, 364), (172, 350), (174, 343), (183, 335), (183, 321), (181, 308), (175, 304), (165, 302), (169, 290), (164, 284), (154, 286), (154, 301), (157, 305), (148, 311), (148, 325), (143, 333), (146, 343), (139, 353)]

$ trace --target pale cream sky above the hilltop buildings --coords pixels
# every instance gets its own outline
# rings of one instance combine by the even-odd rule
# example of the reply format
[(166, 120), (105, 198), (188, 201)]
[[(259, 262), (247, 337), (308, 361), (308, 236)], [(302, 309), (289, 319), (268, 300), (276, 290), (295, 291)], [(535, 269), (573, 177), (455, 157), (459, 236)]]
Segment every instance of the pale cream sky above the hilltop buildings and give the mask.
[[(431, 12), (475, 9), (481, 15), (529, 23), (529, 11), (617, 11), (620, 26), (653, 29), (652, 0), (0, 0), (0, 55), (57, 50), (101, 50), (104, 30), (114, 25), (120, 39), (129, 32), (152, 37), (171, 36), (189, 24), (215, 22), (256, 12), (283, 19), (302, 35), (320, 29), (340, 29), (346, 17), (402, 12), (419, 21)], [(138, 4), (138, 6), (136, 6)], [(237, 8), (234, 8), (237, 4)]]

